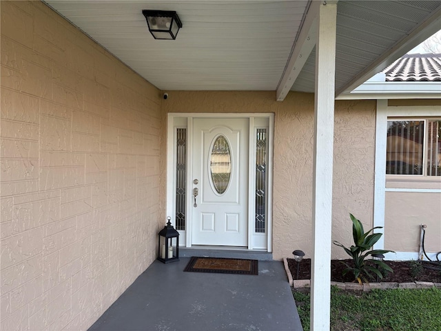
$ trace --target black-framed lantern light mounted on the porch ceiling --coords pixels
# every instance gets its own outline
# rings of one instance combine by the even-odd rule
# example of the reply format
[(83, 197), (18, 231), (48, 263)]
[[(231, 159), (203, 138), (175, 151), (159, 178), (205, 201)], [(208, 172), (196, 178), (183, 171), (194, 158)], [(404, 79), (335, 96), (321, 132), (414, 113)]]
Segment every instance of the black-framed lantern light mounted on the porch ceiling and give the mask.
[(143, 10), (147, 26), (154, 39), (176, 39), (181, 20), (176, 12), (166, 10)]

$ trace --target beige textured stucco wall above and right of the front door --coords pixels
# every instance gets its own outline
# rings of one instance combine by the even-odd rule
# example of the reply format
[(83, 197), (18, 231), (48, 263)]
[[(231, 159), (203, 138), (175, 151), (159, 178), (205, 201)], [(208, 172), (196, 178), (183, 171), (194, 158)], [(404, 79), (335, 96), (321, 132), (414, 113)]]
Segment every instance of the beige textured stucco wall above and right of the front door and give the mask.
[[(295, 249), (311, 257), (314, 96), (291, 92), (285, 101), (277, 102), (274, 92), (169, 91), (163, 108), (164, 129), (166, 112), (275, 114), (273, 257), (291, 257)], [(349, 212), (366, 228), (373, 223), (375, 110), (374, 101), (336, 102), (333, 239), (348, 245)], [(161, 159), (165, 163), (164, 154)], [(161, 183), (165, 185), (164, 174)], [(332, 249), (333, 257), (345, 257), (341, 248)]]

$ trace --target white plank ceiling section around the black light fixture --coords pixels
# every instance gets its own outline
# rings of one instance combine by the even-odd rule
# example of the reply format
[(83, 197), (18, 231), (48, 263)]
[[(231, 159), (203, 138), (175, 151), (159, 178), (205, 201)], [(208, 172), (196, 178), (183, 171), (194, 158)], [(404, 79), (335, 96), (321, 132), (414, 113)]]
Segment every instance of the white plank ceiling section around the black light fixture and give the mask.
[[(46, 1), (162, 90), (275, 90), (307, 1)], [(176, 10), (175, 41), (143, 9)]]

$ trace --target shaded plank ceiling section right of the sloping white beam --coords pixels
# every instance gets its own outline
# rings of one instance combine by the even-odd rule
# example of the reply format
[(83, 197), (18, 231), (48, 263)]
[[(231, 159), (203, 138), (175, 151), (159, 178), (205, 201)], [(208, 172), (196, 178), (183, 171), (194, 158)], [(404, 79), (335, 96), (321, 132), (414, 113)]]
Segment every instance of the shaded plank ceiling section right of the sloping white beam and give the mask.
[[(441, 1), (339, 1), (336, 95), (353, 90), (440, 30), (440, 17)], [(291, 90), (314, 92), (314, 71), (312, 52)]]

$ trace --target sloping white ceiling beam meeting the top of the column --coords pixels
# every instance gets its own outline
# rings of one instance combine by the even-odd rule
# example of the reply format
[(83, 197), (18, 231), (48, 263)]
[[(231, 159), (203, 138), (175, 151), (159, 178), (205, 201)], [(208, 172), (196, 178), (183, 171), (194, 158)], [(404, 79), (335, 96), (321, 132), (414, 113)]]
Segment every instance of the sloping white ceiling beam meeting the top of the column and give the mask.
[(302, 71), (309, 54), (316, 46), (317, 15), (322, 1), (311, 1), (305, 19), (300, 27), (300, 33), (294, 41), (293, 50), (289, 56), (287, 66), (277, 86), (276, 100), (283, 101), (289, 90)]

